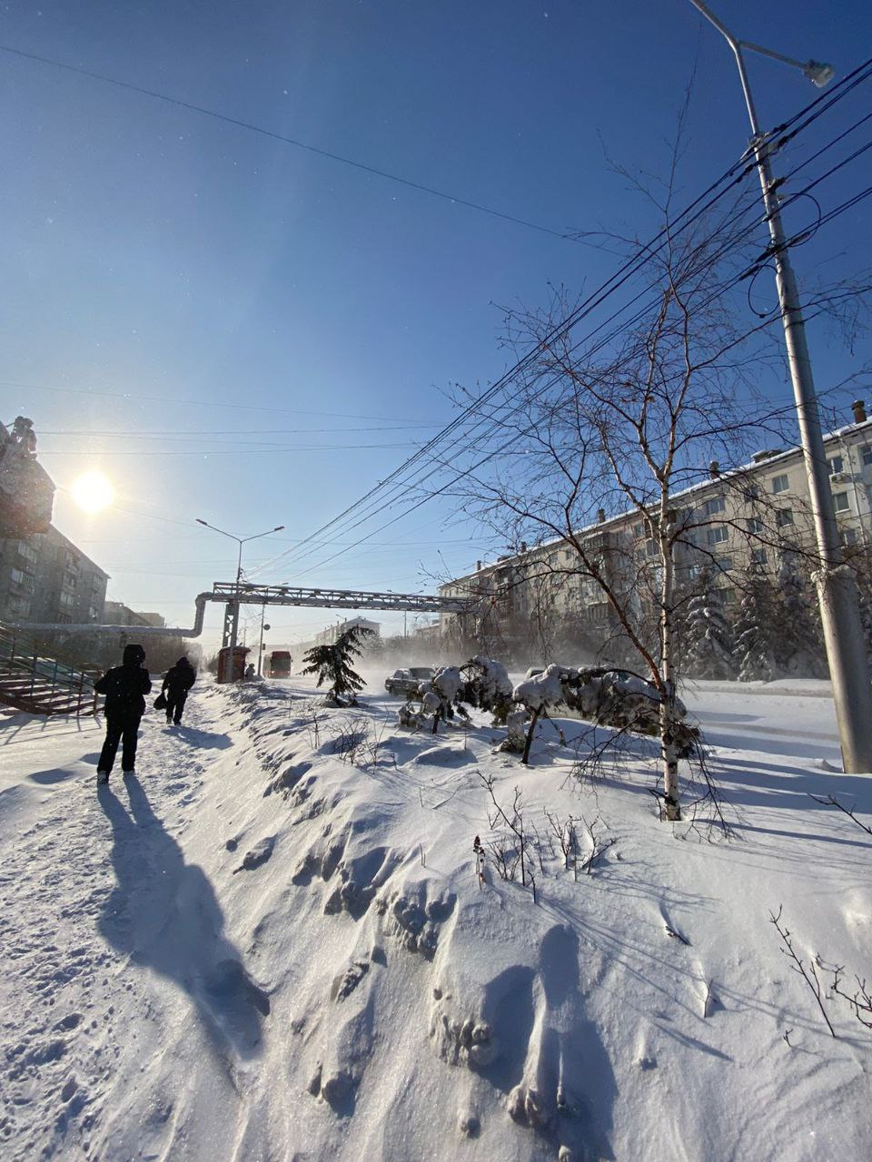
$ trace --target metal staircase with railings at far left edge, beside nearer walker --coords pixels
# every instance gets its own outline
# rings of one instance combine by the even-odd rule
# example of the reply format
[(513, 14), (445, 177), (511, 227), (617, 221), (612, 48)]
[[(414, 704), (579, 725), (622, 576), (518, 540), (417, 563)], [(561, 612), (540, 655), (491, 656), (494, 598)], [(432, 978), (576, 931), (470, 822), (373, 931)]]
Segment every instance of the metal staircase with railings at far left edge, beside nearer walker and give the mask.
[(49, 654), (27, 634), (0, 625), (0, 703), (34, 715), (81, 715), (97, 709), (99, 666)]

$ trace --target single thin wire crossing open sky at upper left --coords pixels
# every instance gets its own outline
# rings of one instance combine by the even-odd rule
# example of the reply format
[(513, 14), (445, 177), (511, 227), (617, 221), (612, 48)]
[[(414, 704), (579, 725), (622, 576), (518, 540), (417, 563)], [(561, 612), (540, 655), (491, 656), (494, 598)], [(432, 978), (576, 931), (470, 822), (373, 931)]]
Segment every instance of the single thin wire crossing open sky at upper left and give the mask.
[(62, 60), (53, 60), (50, 57), (41, 57), (35, 52), (24, 52), (22, 49), (14, 49), (8, 44), (0, 44), (0, 51), (21, 57), (24, 60), (33, 60), (37, 64), (49, 65), (52, 69), (62, 69), (66, 72), (76, 73), (79, 77), (88, 77), (91, 80), (101, 81), (103, 85), (114, 85), (116, 88), (123, 88), (131, 93), (138, 93), (142, 96), (150, 96), (156, 101), (165, 101), (167, 105), (174, 105), (178, 108), (187, 109), (191, 113), (199, 113), (205, 117), (213, 117), (215, 121), (222, 121), (228, 125), (236, 125), (238, 129), (248, 129), (250, 132), (258, 134), (262, 137), (269, 137), (271, 141), (281, 142), (283, 145), (292, 145), (294, 149), (305, 150), (308, 153), (327, 158), (330, 162), (339, 162), (342, 165), (351, 166), (355, 170), (360, 170), (363, 173), (369, 173), (377, 178), (385, 178), (387, 181), (395, 181), (409, 189), (416, 189), (419, 193), (430, 194), (433, 198), (439, 198), (443, 201), (452, 202), (457, 206), (464, 206), (466, 209), (478, 210), (480, 214), (488, 214), (491, 217), (500, 218), (503, 222), (512, 222), (513, 225), (527, 227), (529, 230), (537, 230), (539, 234), (548, 234), (551, 235), (551, 237), (560, 238), (564, 242), (584, 242), (584, 239), (576, 232), (552, 230), (551, 227), (542, 225), (538, 222), (530, 222), (527, 218), (516, 217), (514, 214), (503, 214), (501, 210), (495, 210), (489, 206), (470, 201), (467, 198), (458, 198), (456, 194), (445, 193), (444, 189), (436, 189), (434, 186), (427, 186), (421, 181), (413, 181), (409, 178), (402, 178), (400, 174), (389, 173), (387, 170), (380, 170), (377, 166), (367, 165), (364, 162), (355, 162), (350, 157), (343, 157), (341, 153), (334, 153), (331, 150), (321, 149), (319, 145), (312, 145), (296, 137), (288, 137), (287, 135), (276, 132), (272, 129), (264, 129), (263, 125), (256, 125), (251, 121), (244, 121), (241, 117), (231, 117), (226, 113), (217, 113), (215, 109), (208, 109), (202, 105), (195, 105), (192, 101), (183, 101), (177, 96), (169, 96), (166, 93), (160, 93), (153, 88), (145, 88), (142, 85), (134, 85), (130, 81), (119, 80), (116, 77), (106, 77), (103, 73), (93, 72), (92, 70), (84, 69), (80, 65), (69, 65)]

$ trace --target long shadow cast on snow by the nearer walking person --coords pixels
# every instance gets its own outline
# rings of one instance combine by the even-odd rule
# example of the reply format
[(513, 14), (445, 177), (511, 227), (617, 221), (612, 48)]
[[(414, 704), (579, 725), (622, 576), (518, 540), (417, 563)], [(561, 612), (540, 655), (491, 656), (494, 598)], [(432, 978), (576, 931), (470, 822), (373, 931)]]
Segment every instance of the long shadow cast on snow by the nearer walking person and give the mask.
[(257, 1056), (270, 1000), (223, 935), (224, 917), (202, 868), (185, 863), (138, 780), (128, 777), (124, 786), (131, 813), (108, 786), (98, 788), (117, 878), (99, 930), (134, 963), (187, 992), (220, 1056), (228, 1042), (243, 1059)]

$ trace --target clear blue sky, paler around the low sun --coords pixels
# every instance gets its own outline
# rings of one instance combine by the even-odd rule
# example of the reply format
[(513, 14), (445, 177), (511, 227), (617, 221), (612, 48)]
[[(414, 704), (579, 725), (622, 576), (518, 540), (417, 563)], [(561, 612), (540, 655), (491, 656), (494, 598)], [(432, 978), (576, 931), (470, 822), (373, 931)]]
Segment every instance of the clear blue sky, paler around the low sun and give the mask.
[[(860, 0), (842, 0), (838, 20), (810, 0), (716, 10), (739, 35), (839, 74), (872, 55)], [(662, 171), (694, 64), (688, 200), (748, 138), (730, 53), (687, 0), (47, 0), (2, 12), (7, 46), (558, 232), (653, 227), (603, 143)], [(788, 69), (750, 69), (765, 124), (815, 95)], [(249, 545), (246, 565), (292, 547), (451, 417), (450, 383), (502, 371), (495, 304), (535, 306), (549, 282), (580, 290), (614, 267), (589, 246), (7, 52), (0, 101), (2, 418), (33, 417), (62, 489), (87, 468), (109, 476), (112, 510), (88, 518), (60, 492), (56, 524), (112, 574), (110, 596), (171, 623), (190, 623), (194, 594), (235, 567), (234, 545), (194, 517), (240, 535), (286, 525)], [(848, 113), (867, 106), (866, 92)], [(824, 205), (869, 172), (846, 173)], [(858, 231), (867, 242), (867, 210), (802, 248), (800, 278), (856, 249)], [(841, 378), (844, 353), (813, 339), (819, 383)], [(322, 573), (265, 575), (430, 589), (427, 574), (465, 572), (494, 550), (473, 533), (424, 507)], [(331, 616), (277, 612), (273, 637)], [(207, 644), (216, 626), (213, 612)]]

